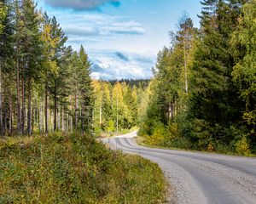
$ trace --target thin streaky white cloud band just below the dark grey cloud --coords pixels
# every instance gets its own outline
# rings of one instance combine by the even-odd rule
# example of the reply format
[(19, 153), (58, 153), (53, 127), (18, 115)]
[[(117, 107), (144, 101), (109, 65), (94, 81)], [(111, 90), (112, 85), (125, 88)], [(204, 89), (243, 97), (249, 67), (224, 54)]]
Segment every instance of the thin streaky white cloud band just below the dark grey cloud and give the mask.
[(126, 20), (124, 17), (111, 16), (108, 14), (73, 14), (52, 13), (61, 20), (61, 27), (67, 36), (77, 37), (113, 37), (116, 35), (143, 35), (144, 27), (134, 21)]

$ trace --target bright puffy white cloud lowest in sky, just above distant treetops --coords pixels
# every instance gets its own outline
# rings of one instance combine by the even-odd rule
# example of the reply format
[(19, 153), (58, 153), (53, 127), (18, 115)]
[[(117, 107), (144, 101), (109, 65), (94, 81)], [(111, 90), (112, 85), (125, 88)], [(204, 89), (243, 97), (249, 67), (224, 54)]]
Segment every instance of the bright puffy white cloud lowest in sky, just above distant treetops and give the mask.
[[(91, 77), (96, 79), (150, 78), (154, 66), (154, 55), (125, 53), (114, 50), (92, 50), (95, 62)], [(121, 57), (120, 57), (121, 56)], [(124, 60), (125, 59), (125, 60)]]

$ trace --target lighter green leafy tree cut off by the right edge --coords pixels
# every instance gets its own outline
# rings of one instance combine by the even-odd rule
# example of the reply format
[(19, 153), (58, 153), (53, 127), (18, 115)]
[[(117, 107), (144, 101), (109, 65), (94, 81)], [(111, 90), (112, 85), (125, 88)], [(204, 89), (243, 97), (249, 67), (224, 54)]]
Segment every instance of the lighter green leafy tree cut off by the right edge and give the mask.
[(256, 1), (242, 8), (242, 18), (232, 37), (236, 65), (232, 73), (234, 82), (245, 102), (243, 119), (247, 122), (253, 146), (256, 144)]

